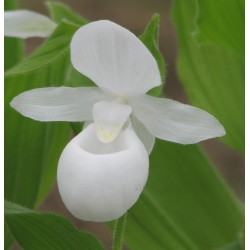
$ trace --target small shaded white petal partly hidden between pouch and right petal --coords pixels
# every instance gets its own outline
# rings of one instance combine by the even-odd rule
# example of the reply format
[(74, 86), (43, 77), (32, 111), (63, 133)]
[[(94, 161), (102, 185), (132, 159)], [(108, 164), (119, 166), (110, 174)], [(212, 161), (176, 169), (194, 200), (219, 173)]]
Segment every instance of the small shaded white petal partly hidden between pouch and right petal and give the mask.
[(131, 121), (137, 136), (144, 144), (145, 149), (150, 155), (155, 144), (155, 137), (145, 128), (143, 123), (140, 122), (134, 115), (131, 116)]

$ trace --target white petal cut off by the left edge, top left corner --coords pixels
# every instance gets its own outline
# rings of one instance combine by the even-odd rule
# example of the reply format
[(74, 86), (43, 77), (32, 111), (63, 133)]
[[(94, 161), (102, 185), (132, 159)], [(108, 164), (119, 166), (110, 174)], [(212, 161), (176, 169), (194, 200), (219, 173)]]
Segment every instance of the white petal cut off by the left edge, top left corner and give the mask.
[(56, 28), (48, 17), (29, 10), (4, 12), (4, 35), (17, 38), (48, 37)]

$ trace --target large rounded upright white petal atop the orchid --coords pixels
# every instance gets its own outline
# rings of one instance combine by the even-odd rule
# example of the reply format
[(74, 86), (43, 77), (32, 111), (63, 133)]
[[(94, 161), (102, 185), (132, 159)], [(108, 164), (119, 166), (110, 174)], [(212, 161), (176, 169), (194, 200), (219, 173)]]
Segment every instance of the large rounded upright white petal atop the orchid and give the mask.
[(106, 20), (81, 27), (73, 36), (75, 69), (112, 93), (146, 93), (161, 84), (157, 63), (130, 31)]

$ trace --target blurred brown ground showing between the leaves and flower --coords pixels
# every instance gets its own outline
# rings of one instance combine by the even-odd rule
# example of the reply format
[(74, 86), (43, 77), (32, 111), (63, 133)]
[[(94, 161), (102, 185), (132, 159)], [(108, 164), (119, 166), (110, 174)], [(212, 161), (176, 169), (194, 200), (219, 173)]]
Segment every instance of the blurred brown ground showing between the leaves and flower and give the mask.
[[(81, 0), (61, 1), (69, 5), (80, 15), (94, 21), (100, 19), (112, 20), (136, 35), (143, 32), (146, 24), (154, 13), (161, 16), (160, 22), (160, 50), (167, 63), (167, 82), (165, 94), (171, 99), (189, 103), (185, 90), (181, 85), (176, 71), (176, 58), (178, 54), (178, 43), (174, 25), (171, 20), (170, 0)], [(45, 1), (42, 0), (20, 0), (22, 9), (30, 9), (48, 15)], [(42, 39), (32, 38), (25, 43), (26, 55), (29, 55)], [(211, 160), (218, 167), (219, 172), (232, 187), (240, 199), (244, 200), (244, 158), (237, 152), (231, 150), (217, 140), (202, 143)], [(70, 218), (80, 229), (93, 232), (98, 235), (107, 249), (110, 249), (112, 235), (105, 224), (82, 222), (72, 217), (64, 207), (57, 191), (56, 185), (50, 192), (45, 202), (40, 206), (41, 210), (56, 211)]]

